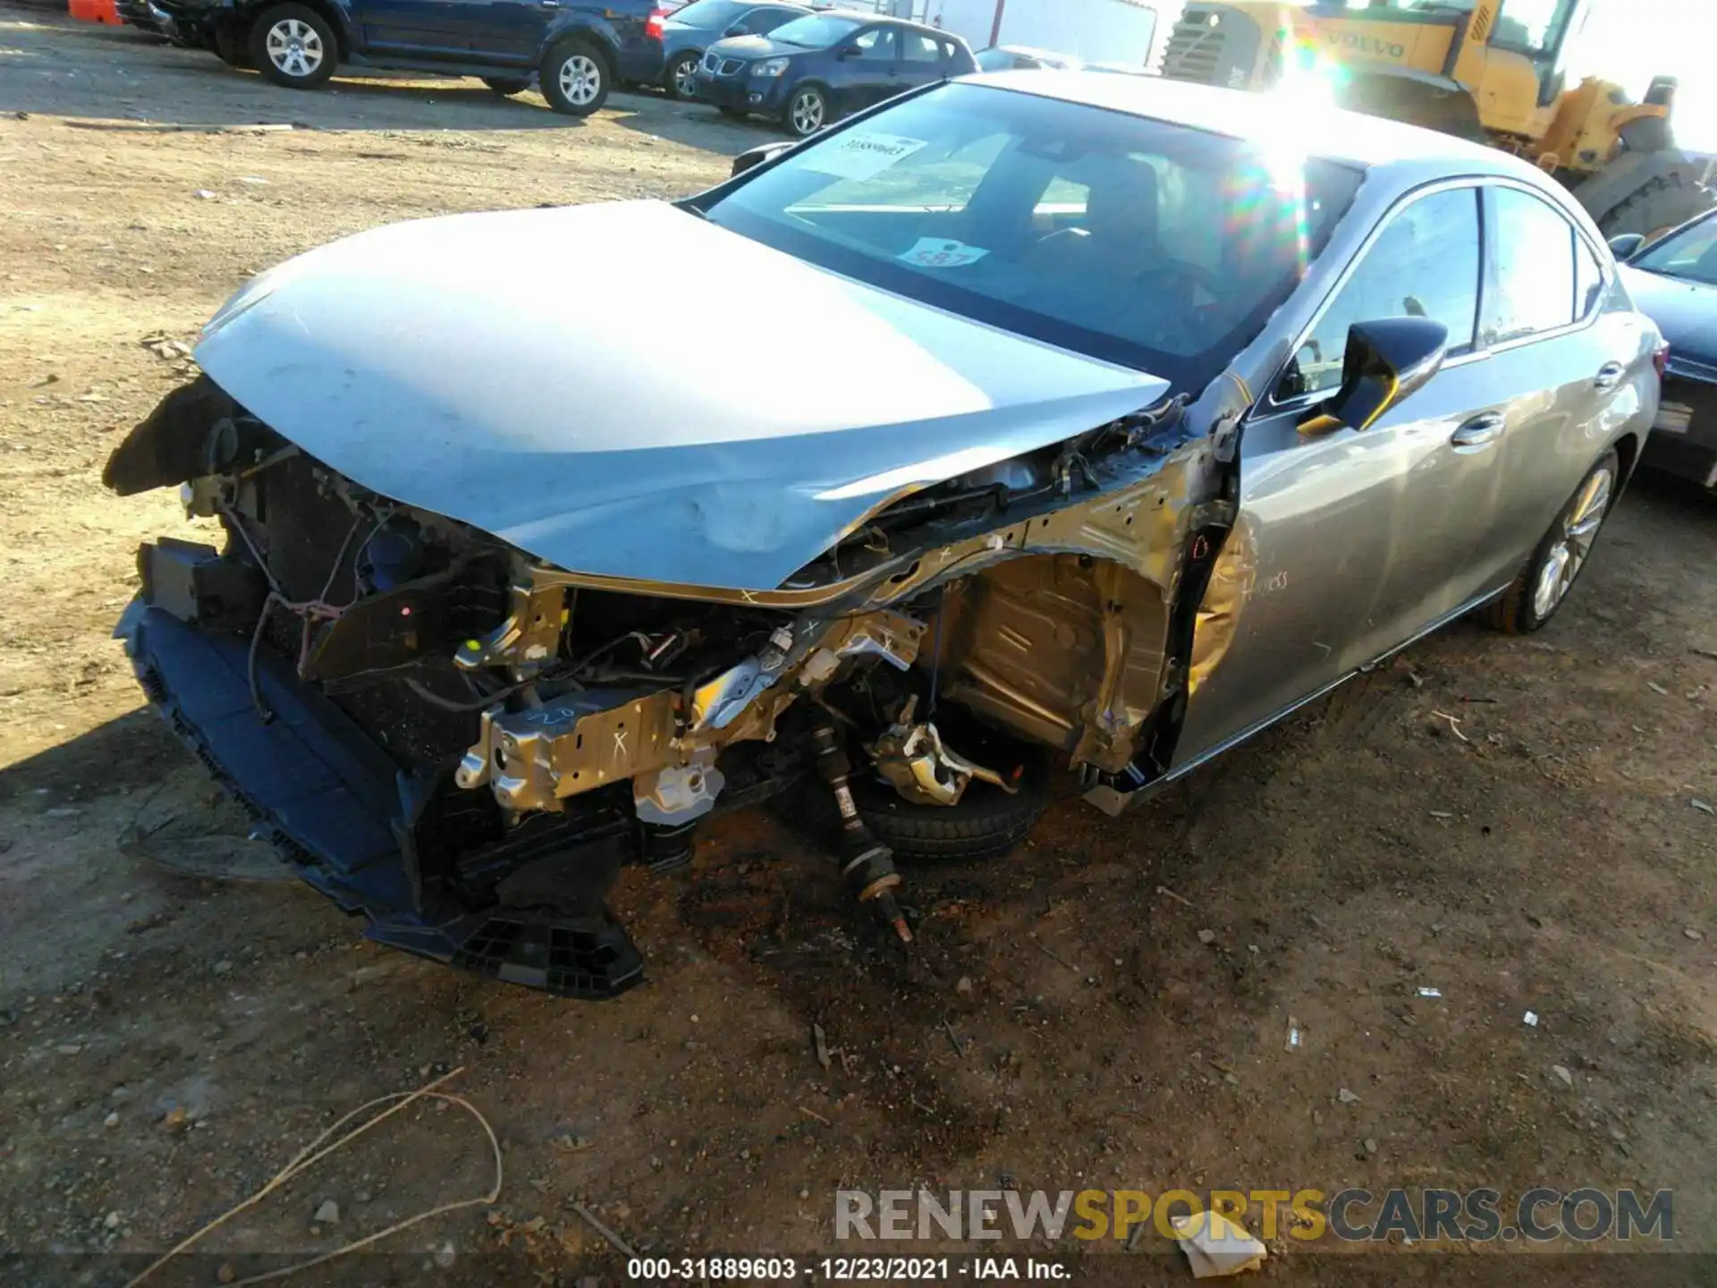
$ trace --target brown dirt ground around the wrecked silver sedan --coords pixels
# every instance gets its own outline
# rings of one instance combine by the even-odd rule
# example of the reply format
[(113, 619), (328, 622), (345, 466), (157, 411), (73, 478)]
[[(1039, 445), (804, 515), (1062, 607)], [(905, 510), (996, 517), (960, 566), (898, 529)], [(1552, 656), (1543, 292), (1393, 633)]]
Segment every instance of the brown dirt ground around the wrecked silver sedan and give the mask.
[[(1453, 627), (1125, 821), (1063, 785), (1013, 859), (910, 874), (910, 957), (766, 812), (625, 878), (649, 984), (608, 1005), (369, 946), (271, 879), (108, 637), (137, 541), (184, 527), (100, 486), (189, 369), (165, 342), (343, 234), (676, 196), (764, 137), (647, 96), (579, 124), (469, 81), (295, 94), (0, 9), (0, 1278), (120, 1283), (338, 1115), (458, 1066), (500, 1200), (302, 1281), (620, 1281), (573, 1202), (639, 1250), (874, 1250), (836, 1247), (833, 1192), (912, 1185), (1631, 1185), (1717, 1252), (1717, 507), (1650, 479), (1542, 635)], [(699, 325), (663, 299), (664, 355)], [(476, 1123), (414, 1106), (160, 1281), (489, 1180)], [(1496, 1250), (1387, 1278), (1518, 1271)], [(1274, 1279), (1386, 1278), (1272, 1252)], [(1123, 1264), (1188, 1278), (1156, 1233)]]

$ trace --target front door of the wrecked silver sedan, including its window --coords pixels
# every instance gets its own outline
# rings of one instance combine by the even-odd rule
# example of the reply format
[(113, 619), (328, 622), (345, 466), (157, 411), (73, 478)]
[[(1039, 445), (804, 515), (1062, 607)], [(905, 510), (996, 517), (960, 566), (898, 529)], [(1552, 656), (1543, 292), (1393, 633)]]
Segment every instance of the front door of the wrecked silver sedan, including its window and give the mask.
[[(1200, 611), (1178, 761), (1314, 697), (1482, 592), (1473, 551), (1501, 474), (1496, 453), (1453, 441), (1494, 405), (1477, 349), (1478, 230), (1475, 182), (1396, 204), (1247, 422), (1240, 515)], [(1444, 369), (1365, 431), (1303, 433), (1341, 385), (1348, 328), (1399, 316), (1449, 328)]]

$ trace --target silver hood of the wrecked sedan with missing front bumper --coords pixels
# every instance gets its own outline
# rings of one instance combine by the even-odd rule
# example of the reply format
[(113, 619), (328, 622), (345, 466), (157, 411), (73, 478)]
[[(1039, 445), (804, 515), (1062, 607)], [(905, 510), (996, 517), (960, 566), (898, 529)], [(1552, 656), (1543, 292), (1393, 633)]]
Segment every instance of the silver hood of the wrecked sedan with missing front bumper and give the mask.
[(658, 201), (349, 237), (244, 287), (196, 357), (364, 488), (568, 570), (731, 589), (1168, 390)]

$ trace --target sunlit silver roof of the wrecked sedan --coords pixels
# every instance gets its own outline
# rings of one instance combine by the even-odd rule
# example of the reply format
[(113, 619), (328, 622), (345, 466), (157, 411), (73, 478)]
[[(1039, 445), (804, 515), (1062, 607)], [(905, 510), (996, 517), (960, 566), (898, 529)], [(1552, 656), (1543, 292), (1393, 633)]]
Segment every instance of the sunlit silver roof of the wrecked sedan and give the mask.
[(1288, 122), (1288, 141), (1310, 156), (1365, 168), (1442, 167), (1458, 173), (1530, 177), (1537, 185), (1556, 189), (1556, 184), (1545, 180), (1537, 167), (1496, 148), (1319, 103), (1295, 101), (1291, 106), (1284, 106), (1279, 96), (1267, 93), (1217, 89), (1161, 76), (1113, 76), (1089, 70), (1054, 77), (1035, 76), (1028, 70), (1008, 70), (962, 79), (1039, 98), (1059, 98), (1068, 103), (1166, 120), (1260, 146), (1284, 143), (1283, 125)]

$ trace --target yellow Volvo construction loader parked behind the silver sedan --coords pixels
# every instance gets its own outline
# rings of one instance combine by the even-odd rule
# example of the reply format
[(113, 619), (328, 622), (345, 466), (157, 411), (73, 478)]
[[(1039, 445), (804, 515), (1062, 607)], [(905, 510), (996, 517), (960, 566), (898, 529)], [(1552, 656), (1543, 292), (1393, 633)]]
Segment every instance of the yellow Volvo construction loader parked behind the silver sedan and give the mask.
[[(1624, 0), (1611, 0), (1623, 3)], [(1595, 77), (1569, 88), (1590, 0), (1192, 0), (1162, 74), (1231, 89), (1329, 84), (1341, 106), (1508, 149), (1561, 179), (1609, 237), (1710, 206), (1671, 132), (1676, 82), (1645, 103)]]

